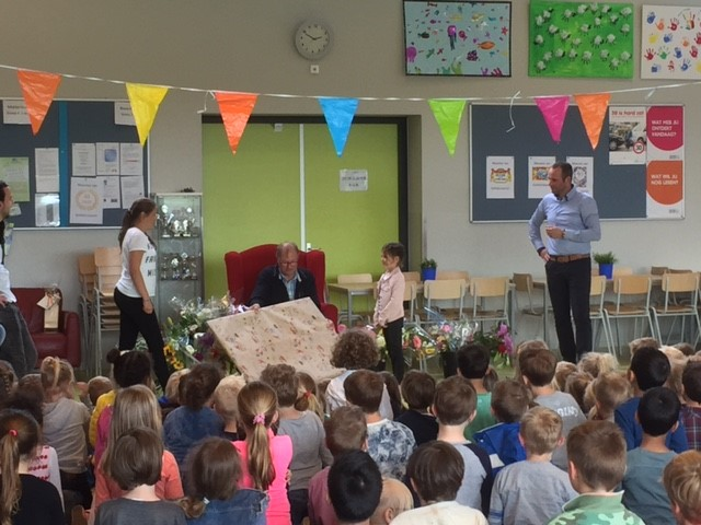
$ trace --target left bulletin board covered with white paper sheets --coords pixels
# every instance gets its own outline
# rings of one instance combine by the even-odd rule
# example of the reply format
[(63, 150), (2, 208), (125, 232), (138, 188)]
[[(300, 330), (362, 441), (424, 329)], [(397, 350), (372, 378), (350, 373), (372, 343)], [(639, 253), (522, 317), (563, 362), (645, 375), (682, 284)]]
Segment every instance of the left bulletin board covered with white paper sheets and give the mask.
[(124, 102), (54, 101), (36, 136), (13, 124), (21, 101), (2, 104), (0, 179), (15, 200), (14, 228), (116, 228), (149, 195), (148, 148), (124, 110), (117, 118)]

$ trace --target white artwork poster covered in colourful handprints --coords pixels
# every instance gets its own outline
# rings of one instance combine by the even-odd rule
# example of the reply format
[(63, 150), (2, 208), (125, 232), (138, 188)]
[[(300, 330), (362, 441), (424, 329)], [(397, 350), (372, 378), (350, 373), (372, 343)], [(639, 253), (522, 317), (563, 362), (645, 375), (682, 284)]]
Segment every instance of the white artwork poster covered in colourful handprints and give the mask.
[(701, 79), (701, 8), (643, 5), (642, 79)]

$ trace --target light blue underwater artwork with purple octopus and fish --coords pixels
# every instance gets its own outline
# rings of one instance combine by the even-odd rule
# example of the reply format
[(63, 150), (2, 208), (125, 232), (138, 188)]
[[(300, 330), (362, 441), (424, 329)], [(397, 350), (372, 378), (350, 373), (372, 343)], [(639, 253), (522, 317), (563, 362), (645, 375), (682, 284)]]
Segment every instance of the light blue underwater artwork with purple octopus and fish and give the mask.
[(512, 2), (404, 1), (406, 74), (512, 75)]

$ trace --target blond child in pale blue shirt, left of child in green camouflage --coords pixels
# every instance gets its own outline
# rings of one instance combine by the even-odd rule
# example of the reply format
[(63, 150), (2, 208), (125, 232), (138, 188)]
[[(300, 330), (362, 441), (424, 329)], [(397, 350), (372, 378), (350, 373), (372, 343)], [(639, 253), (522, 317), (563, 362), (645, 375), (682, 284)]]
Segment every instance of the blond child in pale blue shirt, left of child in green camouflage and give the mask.
[(560, 514), (577, 493), (567, 474), (550, 459), (562, 445), (562, 418), (545, 407), (533, 407), (520, 422), (519, 441), (526, 460), (499, 471), (492, 488), (490, 525), (540, 525)]

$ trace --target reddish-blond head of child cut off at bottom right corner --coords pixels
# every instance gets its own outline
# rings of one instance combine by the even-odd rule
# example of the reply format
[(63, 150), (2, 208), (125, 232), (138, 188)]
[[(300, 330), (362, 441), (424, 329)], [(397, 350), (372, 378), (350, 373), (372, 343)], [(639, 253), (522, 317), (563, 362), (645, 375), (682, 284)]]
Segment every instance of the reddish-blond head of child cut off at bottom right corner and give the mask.
[(673, 513), (681, 514), (689, 523), (700, 523), (701, 452), (687, 451), (675, 456), (665, 467), (662, 481), (667, 489)]

